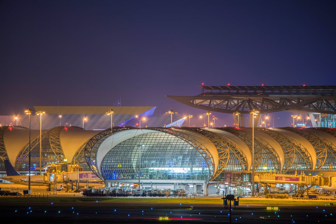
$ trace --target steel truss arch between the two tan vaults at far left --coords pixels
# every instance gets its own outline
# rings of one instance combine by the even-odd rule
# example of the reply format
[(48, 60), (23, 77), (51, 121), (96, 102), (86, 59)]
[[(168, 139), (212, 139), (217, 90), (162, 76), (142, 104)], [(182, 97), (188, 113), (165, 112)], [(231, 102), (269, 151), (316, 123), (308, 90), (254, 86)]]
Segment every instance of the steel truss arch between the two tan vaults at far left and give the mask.
[[(64, 126), (55, 127), (52, 129), (49, 129), (41, 134), (41, 139), (45, 139), (49, 137), (49, 144), (51, 146), (51, 150), (55, 155), (55, 163), (63, 161), (64, 160), (64, 152), (62, 150), (61, 144), (59, 142), (59, 133), (64, 128)], [(32, 151), (35, 147), (40, 147), (40, 135), (34, 138), (30, 143), (30, 150)], [(22, 166), (23, 163), (26, 162), (26, 158), (28, 158), (29, 154), (29, 148), (28, 144), (20, 151), (16, 158), (15, 162), (15, 168), (18, 169), (20, 166)], [(40, 164), (41, 165), (41, 164)]]

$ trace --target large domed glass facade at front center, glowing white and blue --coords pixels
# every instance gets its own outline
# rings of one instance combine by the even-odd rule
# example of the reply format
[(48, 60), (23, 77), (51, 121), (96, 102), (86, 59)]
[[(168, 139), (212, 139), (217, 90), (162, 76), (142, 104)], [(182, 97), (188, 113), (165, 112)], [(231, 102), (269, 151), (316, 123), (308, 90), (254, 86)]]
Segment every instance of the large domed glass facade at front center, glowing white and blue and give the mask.
[(209, 168), (195, 148), (178, 137), (158, 132), (118, 144), (102, 160), (101, 170), (105, 179), (138, 180), (139, 174), (140, 179), (209, 179)]

